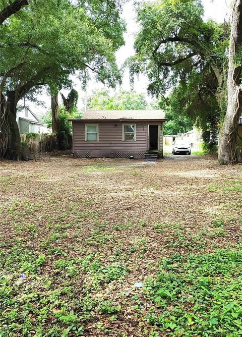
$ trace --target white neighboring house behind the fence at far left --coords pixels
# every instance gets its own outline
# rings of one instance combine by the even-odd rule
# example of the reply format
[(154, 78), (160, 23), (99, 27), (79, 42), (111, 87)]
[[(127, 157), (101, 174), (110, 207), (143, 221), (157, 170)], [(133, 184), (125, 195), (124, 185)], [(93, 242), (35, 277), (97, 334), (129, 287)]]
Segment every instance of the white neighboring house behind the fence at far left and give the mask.
[(38, 117), (30, 110), (29, 107), (25, 106), (23, 109), (17, 110), (16, 118), (19, 132), (23, 133), (51, 133), (52, 130), (47, 128), (47, 126), (41, 122)]

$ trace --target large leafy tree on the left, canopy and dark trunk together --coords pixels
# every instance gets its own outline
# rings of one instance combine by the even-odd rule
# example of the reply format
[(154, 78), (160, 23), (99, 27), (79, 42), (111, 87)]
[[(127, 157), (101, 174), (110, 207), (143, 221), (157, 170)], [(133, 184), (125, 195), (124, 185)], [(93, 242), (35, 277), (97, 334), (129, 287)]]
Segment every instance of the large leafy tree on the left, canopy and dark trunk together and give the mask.
[[(22, 159), (17, 104), (48, 85), (54, 96), (71, 86), (70, 75), (88, 70), (114, 86), (120, 80), (115, 51), (124, 44), (125, 23), (116, 1), (40, 0), (29, 2), (1, 25), (1, 116), (8, 129), (6, 156)], [(3, 107), (6, 107), (5, 109)], [(7, 111), (6, 111), (7, 110)]]

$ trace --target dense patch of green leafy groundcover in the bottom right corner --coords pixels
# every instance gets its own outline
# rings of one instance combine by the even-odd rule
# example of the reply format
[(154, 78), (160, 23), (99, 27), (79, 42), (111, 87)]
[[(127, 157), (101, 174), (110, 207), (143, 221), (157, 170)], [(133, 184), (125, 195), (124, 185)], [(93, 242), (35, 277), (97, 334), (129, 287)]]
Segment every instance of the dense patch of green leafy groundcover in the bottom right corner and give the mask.
[(172, 336), (241, 335), (241, 263), (241, 250), (164, 259), (157, 280), (146, 287), (162, 308), (148, 317), (149, 323)]

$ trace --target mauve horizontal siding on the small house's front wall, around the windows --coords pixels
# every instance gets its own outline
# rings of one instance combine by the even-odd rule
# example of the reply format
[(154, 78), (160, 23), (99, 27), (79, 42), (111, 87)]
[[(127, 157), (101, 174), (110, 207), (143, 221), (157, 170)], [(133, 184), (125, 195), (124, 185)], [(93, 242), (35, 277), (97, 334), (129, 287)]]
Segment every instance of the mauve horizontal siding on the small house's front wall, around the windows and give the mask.
[[(136, 141), (123, 141), (123, 122), (100, 122), (99, 141), (85, 141), (85, 124), (73, 121), (73, 152), (90, 150), (146, 150), (146, 123), (136, 124)], [(125, 123), (125, 122), (124, 122)], [(132, 124), (127, 121), (126, 123)], [(90, 121), (89, 124), (92, 124)]]

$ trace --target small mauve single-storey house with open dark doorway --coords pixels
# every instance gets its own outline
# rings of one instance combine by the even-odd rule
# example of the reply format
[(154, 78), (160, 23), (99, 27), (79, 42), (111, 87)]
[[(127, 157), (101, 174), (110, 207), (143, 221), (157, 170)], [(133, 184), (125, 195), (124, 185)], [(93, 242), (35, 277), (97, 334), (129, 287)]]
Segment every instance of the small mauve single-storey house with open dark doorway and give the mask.
[(76, 157), (163, 156), (163, 110), (87, 110), (71, 120)]

